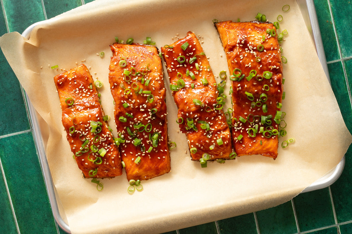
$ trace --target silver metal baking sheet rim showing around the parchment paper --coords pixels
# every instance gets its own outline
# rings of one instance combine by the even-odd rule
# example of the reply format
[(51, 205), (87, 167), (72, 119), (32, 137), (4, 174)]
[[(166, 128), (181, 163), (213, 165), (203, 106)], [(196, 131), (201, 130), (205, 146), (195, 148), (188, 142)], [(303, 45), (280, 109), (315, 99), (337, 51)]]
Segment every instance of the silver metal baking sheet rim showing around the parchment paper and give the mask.
[[(320, 34), (320, 29), (319, 29), (319, 24), (318, 24), (318, 19), (316, 16), (315, 12), (315, 7), (314, 7), (314, 2), (313, 0), (297, 0), (297, 3), (301, 9), (303, 19), (306, 22), (306, 26), (308, 28), (308, 31), (312, 37), (312, 41), (315, 45), (317, 54), (319, 56), (319, 60), (322, 64), (322, 67), (329, 79), (329, 73), (327, 69), (327, 63), (326, 63), (326, 58), (325, 58), (325, 53), (323, 49), (323, 44), (321, 40), (321, 34)], [(33, 28), (39, 24), (41, 24), (43, 21), (37, 22), (30, 27), (28, 27), (23, 33), (22, 36), (25, 38), (29, 38)], [(43, 171), (43, 176), (44, 176), (44, 181), (46, 185), (46, 189), (48, 192), (49, 196), (49, 201), (50, 205), (52, 208), (52, 213), (54, 215), (54, 219), (57, 222), (57, 225), (63, 229), (67, 233), (70, 232), (70, 227), (67, 224), (67, 219), (65, 216), (65, 212), (63, 211), (62, 205), (60, 200), (58, 199), (55, 186), (53, 184), (52, 178), (51, 178), (51, 173), (48, 165), (48, 161), (46, 159), (45, 151), (44, 151), (44, 146), (46, 145), (45, 142), (45, 134), (48, 131), (46, 123), (42, 120), (42, 118), (37, 114), (36, 110), (32, 106), (32, 103), (30, 102), (27, 94), (26, 94), (26, 102), (27, 106), (29, 109), (29, 114), (30, 114), (30, 119), (33, 127), (33, 134), (34, 134), (34, 140), (36, 143), (37, 147), (37, 152), (38, 152), (38, 157), (39, 157), (39, 162), (40, 166)], [(342, 170), (345, 165), (345, 156), (341, 159), (340, 163), (333, 168), (329, 173), (324, 175), (322, 178), (319, 180), (315, 181), (304, 189), (302, 193), (304, 192), (309, 192), (321, 188), (328, 187), (332, 183), (334, 183), (339, 176), (342, 173)]]

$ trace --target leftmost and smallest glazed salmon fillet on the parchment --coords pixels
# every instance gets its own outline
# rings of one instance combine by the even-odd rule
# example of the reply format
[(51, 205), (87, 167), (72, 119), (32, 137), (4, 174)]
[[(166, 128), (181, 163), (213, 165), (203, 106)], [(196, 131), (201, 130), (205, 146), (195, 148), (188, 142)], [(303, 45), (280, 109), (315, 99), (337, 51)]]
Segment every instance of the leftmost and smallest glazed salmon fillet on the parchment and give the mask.
[(100, 105), (98, 91), (85, 65), (55, 76), (62, 124), (84, 178), (112, 178), (122, 174), (118, 147)]

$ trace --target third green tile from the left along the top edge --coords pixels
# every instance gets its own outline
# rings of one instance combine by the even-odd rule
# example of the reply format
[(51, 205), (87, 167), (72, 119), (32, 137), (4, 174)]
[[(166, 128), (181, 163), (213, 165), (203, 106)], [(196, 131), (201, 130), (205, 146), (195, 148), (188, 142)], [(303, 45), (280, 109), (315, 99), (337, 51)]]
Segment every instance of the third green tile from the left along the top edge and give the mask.
[(44, 7), (46, 16), (48, 19), (67, 12), (73, 8), (79, 7), (82, 5), (81, 0), (71, 0), (71, 1), (51, 1), (44, 0)]

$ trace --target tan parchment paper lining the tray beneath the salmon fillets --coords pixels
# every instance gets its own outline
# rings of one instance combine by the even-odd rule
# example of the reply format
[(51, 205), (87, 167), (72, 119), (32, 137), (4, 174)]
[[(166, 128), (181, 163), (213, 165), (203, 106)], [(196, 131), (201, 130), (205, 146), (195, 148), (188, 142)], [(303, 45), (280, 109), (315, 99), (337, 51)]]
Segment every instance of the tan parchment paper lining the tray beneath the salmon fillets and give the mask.
[[(285, 4), (290, 5), (288, 12), (282, 11)], [(133, 37), (135, 42), (150, 36), (160, 48), (174, 42), (175, 36), (181, 38), (193, 31), (201, 36), (217, 75), (227, 71), (227, 63), (212, 20), (250, 21), (258, 12), (271, 22), (281, 14), (280, 30), (289, 33), (282, 44), (288, 59), (283, 65), (286, 98), (282, 108), (287, 113), (288, 134), (279, 142), (295, 138), (295, 143), (279, 147), (275, 161), (259, 155), (241, 156), (201, 168), (189, 159), (186, 138), (177, 131), (177, 110), (169, 91), (169, 135), (177, 143), (171, 150), (171, 172), (142, 181), (143, 191), (132, 195), (127, 193), (125, 174), (104, 179), (100, 192), (82, 178), (61, 123), (53, 81), (61, 69), (81, 63), (91, 67), (93, 77), (104, 83), (100, 93), (105, 114), (113, 116), (108, 66), (109, 44), (115, 36), (124, 41)], [(1, 37), (0, 45), (33, 106), (50, 126), (46, 154), (72, 233), (162, 233), (276, 206), (329, 172), (351, 143), (294, 0), (95, 1), (42, 22), (30, 40), (10, 33)], [(105, 56), (96, 55), (102, 51)], [(50, 68), (54, 65), (59, 69)], [(169, 86), (166, 72), (165, 86)], [(116, 135), (114, 121), (109, 123)]]

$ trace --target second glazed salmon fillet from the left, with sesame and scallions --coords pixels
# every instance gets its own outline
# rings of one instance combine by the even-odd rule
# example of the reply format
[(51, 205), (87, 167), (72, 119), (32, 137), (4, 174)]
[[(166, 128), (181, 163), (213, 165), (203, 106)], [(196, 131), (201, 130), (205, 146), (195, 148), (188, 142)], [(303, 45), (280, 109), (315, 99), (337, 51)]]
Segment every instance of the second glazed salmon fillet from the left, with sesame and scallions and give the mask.
[(110, 90), (127, 179), (147, 180), (168, 173), (166, 90), (158, 49), (143, 44), (110, 47)]

